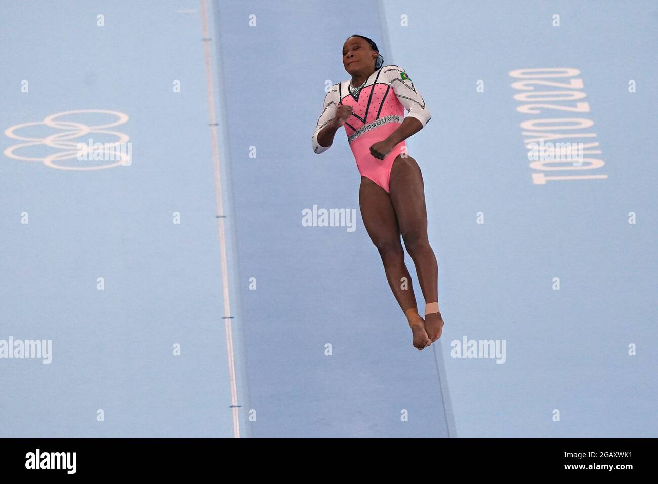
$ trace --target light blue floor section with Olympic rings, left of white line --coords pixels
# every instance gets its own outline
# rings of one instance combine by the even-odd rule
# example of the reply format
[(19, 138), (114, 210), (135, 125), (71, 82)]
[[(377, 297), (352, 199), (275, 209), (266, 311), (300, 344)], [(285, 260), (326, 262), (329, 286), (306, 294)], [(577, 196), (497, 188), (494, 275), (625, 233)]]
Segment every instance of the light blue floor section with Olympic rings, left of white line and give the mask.
[(2, 159), (0, 339), (53, 340), (50, 364), (0, 360), (4, 437), (234, 436), (201, 20), (183, 7), (3, 3), (3, 130), (110, 109), (133, 156), (96, 171)]

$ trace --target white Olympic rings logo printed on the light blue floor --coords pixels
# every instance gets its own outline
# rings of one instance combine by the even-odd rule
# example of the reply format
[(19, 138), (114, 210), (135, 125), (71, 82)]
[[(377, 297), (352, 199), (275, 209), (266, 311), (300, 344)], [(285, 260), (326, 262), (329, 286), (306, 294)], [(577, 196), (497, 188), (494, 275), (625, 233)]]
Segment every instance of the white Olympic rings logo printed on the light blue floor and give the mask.
[[(113, 122), (108, 122), (106, 124), (95, 124), (93, 126), (88, 126), (87, 124), (82, 124), (81, 122), (61, 120), (61, 118), (66, 116), (70, 117), (72, 115), (80, 115), (86, 113), (100, 113), (100, 114), (113, 115), (114, 117), (117, 118), (117, 120)], [(14, 140), (26, 141), (26, 143), (20, 143), (5, 149), (5, 156), (20, 161), (41, 161), (47, 167), (57, 168), (60, 170), (99, 170), (103, 168), (116, 167), (118, 165), (127, 166), (130, 165), (130, 155), (124, 153), (124, 149), (117, 150), (114, 147), (124, 146), (124, 144), (130, 138), (128, 138), (128, 135), (125, 133), (107, 129), (107, 128), (113, 128), (114, 126), (118, 126), (119, 124), (124, 124), (124, 122), (126, 121), (128, 121), (128, 115), (124, 113), (119, 113), (118, 111), (108, 111), (107, 109), (78, 109), (77, 111), (64, 111), (63, 113), (55, 113), (54, 115), (45, 117), (43, 121), (24, 122), (22, 124), (16, 124), (14, 126), (11, 126), (10, 128), (7, 128), (5, 130), (5, 134), (9, 136), (9, 138), (13, 138)], [(16, 134), (16, 130), (19, 130), (21, 128), (26, 128), (28, 126), (40, 126), (40, 125), (45, 125), (48, 126), (49, 128), (55, 128), (64, 131), (51, 134), (49, 136), (46, 136), (45, 138), (34, 138), (31, 136), (20, 136), (19, 134)], [(75, 140), (76, 138), (80, 138), (80, 136), (86, 136), (86, 134), (89, 133), (101, 133), (101, 134), (113, 135), (118, 138), (118, 141), (113, 143), (102, 144), (101, 148), (97, 148), (97, 145), (99, 144), (95, 144), (94, 146), (91, 146), (91, 143), (89, 145), (86, 145), (80, 142), (72, 141)], [(91, 140), (89, 141), (91, 142)], [(29, 148), (30, 146), (38, 146), (38, 145), (49, 146), (50, 148), (65, 149), (67, 151), (58, 151), (57, 153), (47, 155), (46, 157), (28, 157), (16, 153), (16, 151), (19, 149)], [(128, 143), (128, 145), (130, 146), (130, 143)], [(107, 165), (94, 165), (89, 167), (67, 166), (65, 164), (61, 164), (61, 162), (70, 159), (76, 159), (80, 161), (81, 157), (82, 159), (96, 160), (97, 157), (95, 156), (89, 157), (89, 153), (93, 154), (93, 151), (96, 151), (96, 154), (99, 154), (99, 151), (102, 151), (103, 155), (101, 156), (101, 159), (103, 161), (105, 161), (105, 159), (108, 157), (107, 156), (108, 153), (112, 154), (111, 156), (112, 161), (114, 161), (115, 157), (118, 157), (118, 161), (116, 161), (116, 163), (110, 163)]]

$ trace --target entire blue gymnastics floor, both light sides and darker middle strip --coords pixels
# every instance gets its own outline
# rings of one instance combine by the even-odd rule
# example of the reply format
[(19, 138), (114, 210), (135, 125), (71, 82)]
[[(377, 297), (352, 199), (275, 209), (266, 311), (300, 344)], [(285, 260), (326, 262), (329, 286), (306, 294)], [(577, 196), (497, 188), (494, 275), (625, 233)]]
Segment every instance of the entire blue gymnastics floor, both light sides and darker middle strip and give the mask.
[[(658, 436), (655, 3), (209, 1), (203, 41), (204, 5), (3, 3), (2, 130), (118, 111), (133, 159), (1, 159), (0, 340), (52, 340), (53, 362), (0, 359), (0, 437), (234, 437), (232, 358), (240, 437)], [(407, 140), (446, 322), (422, 352), (363, 227), (345, 135), (311, 149), (352, 34), (404, 67), (432, 112)], [(517, 111), (509, 72), (555, 67), (580, 71), (590, 112)], [(605, 165), (545, 175), (607, 178), (533, 183), (520, 124), (559, 117), (594, 121), (580, 132)], [(17, 143), (0, 134), (0, 152)], [(356, 230), (303, 227), (313, 205), (356, 209)], [(504, 340), (505, 362), (453, 358), (463, 338)]]

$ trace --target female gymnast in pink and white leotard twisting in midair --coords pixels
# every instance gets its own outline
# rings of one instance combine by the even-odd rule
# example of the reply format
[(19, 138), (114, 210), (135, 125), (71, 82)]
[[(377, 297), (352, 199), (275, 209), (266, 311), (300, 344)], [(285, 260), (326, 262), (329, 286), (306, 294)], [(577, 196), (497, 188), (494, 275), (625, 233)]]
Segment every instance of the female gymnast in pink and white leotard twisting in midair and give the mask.
[[(351, 81), (331, 87), (313, 133), (313, 151), (322, 153), (345, 127), (361, 173), (359, 206), (370, 240), (377, 247), (386, 279), (405, 313), (413, 346), (422, 350), (438, 340), (443, 319), (438, 304), (438, 265), (427, 237), (427, 211), (420, 168), (407, 155), (405, 140), (431, 115), (407, 73), (383, 65), (376, 43), (351, 36), (343, 44), (343, 66)], [(404, 108), (409, 111), (404, 117)], [(425, 300), (418, 314), (400, 234), (411, 255)]]

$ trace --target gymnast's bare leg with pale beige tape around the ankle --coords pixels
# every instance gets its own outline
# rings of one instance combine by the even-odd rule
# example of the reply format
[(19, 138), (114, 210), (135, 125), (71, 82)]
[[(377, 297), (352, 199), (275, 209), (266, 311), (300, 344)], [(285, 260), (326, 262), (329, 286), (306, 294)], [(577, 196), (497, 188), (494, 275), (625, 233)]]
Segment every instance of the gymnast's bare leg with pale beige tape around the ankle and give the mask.
[(402, 238), (411, 255), (425, 298), (425, 329), (432, 342), (443, 333), (438, 304), (438, 264), (427, 237), (427, 210), (420, 167), (410, 156), (398, 155), (390, 176), (390, 196)]

